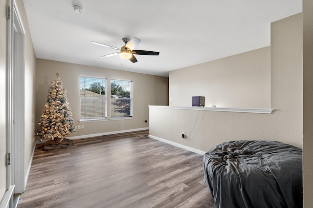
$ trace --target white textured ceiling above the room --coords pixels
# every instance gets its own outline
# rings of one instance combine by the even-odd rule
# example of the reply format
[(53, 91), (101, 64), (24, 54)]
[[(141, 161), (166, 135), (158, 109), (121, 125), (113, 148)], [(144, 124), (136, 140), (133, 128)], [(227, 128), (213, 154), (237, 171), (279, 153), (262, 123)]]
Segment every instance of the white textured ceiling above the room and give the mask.
[[(302, 11), (302, 0), (23, 0), (36, 57), (168, 76), (171, 70), (270, 45), (270, 22)], [(72, 5), (81, 5), (76, 13)], [(159, 56), (99, 58), (122, 38)], [(123, 63), (123, 64), (121, 64)]]

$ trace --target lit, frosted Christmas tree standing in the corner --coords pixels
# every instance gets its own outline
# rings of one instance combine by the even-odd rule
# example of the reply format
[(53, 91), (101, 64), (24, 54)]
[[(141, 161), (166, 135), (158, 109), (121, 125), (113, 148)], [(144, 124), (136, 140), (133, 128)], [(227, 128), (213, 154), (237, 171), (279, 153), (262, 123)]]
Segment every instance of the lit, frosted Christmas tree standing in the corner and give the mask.
[(59, 73), (56, 75), (57, 79), (52, 81), (48, 89), (49, 95), (41, 114), (40, 126), (35, 131), (35, 136), (40, 141), (48, 140), (42, 146), (44, 150), (72, 145), (72, 141), (65, 137), (75, 131), (72, 112), (67, 102), (67, 91), (59, 78)]

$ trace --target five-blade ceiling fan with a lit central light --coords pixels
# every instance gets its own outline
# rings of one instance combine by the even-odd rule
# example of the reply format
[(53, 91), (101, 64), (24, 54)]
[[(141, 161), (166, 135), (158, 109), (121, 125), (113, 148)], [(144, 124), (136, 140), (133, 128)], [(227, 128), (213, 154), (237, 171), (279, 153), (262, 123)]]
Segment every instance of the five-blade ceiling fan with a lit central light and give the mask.
[(129, 38), (122, 38), (122, 41), (125, 43), (125, 45), (123, 45), (121, 48), (116, 48), (114, 46), (111, 45), (107, 45), (107, 44), (103, 44), (100, 42), (94, 42), (92, 41), (91, 43), (97, 44), (97, 45), (101, 45), (101, 46), (105, 46), (105, 47), (109, 47), (115, 50), (119, 50), (119, 52), (116, 53), (111, 53), (111, 54), (107, 54), (104, 56), (100, 56), (100, 58), (103, 57), (110, 57), (110, 56), (114, 56), (117, 54), (120, 54), (120, 56), (123, 59), (129, 59), (131, 62), (137, 62), (137, 59), (134, 57), (134, 54), (138, 54), (138, 55), (150, 55), (150, 56), (157, 56), (159, 55), (159, 52), (156, 51), (143, 51), (143, 50), (134, 50), (135, 47), (137, 47), (137, 45), (139, 44), (139, 42), (141, 41), (140, 39), (134, 37), (131, 40)]

